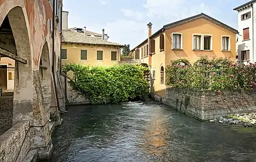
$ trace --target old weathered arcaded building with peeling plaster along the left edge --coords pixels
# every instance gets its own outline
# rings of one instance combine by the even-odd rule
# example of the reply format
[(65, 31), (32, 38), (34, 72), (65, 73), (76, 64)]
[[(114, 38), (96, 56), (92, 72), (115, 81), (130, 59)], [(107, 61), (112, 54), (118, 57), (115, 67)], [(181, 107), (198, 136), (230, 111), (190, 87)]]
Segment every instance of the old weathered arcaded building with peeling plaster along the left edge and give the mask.
[(0, 0), (0, 161), (50, 157), (65, 109), (61, 12), (62, 0)]

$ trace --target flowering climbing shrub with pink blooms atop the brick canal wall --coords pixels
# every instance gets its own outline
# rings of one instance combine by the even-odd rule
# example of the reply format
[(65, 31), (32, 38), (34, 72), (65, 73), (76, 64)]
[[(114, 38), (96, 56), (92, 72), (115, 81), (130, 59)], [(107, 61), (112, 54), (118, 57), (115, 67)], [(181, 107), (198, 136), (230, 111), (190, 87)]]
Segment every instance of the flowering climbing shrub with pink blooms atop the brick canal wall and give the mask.
[(218, 92), (256, 86), (256, 64), (236, 66), (229, 58), (201, 57), (193, 66), (172, 64), (166, 71), (171, 86)]

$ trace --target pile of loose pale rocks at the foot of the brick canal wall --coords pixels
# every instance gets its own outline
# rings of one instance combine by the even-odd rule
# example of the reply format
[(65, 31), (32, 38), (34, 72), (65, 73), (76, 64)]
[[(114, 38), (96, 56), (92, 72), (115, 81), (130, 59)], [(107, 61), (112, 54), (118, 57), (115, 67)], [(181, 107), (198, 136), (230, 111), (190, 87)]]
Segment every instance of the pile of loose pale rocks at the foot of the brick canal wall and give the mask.
[(231, 114), (229, 116), (208, 120), (210, 123), (240, 124), (245, 127), (256, 125), (256, 113)]

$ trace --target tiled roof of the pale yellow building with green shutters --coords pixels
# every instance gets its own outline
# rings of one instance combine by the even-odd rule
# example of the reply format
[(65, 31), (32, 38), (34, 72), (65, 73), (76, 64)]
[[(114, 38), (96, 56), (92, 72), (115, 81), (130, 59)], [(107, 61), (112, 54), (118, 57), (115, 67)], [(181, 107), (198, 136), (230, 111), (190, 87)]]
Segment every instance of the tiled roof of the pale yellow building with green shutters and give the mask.
[(77, 44), (94, 44), (94, 45), (114, 45), (123, 47), (118, 43), (109, 42), (96, 37), (90, 37), (84, 33), (79, 33), (72, 30), (62, 30), (62, 42), (63, 43), (77, 43)]

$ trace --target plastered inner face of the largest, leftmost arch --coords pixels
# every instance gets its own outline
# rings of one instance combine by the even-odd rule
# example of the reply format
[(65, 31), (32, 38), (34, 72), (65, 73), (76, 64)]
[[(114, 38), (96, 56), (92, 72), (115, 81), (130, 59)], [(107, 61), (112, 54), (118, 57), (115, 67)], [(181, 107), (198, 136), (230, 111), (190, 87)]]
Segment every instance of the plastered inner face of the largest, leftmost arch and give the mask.
[(19, 120), (31, 119), (33, 115), (33, 70), (29, 29), (27, 28), (29, 25), (25, 19), (25, 12), (20, 6), (12, 8), (4, 19), (9, 22), (14, 38), (16, 49), (14, 54), (27, 60), (27, 64), (15, 61), (12, 124), (16, 124)]

